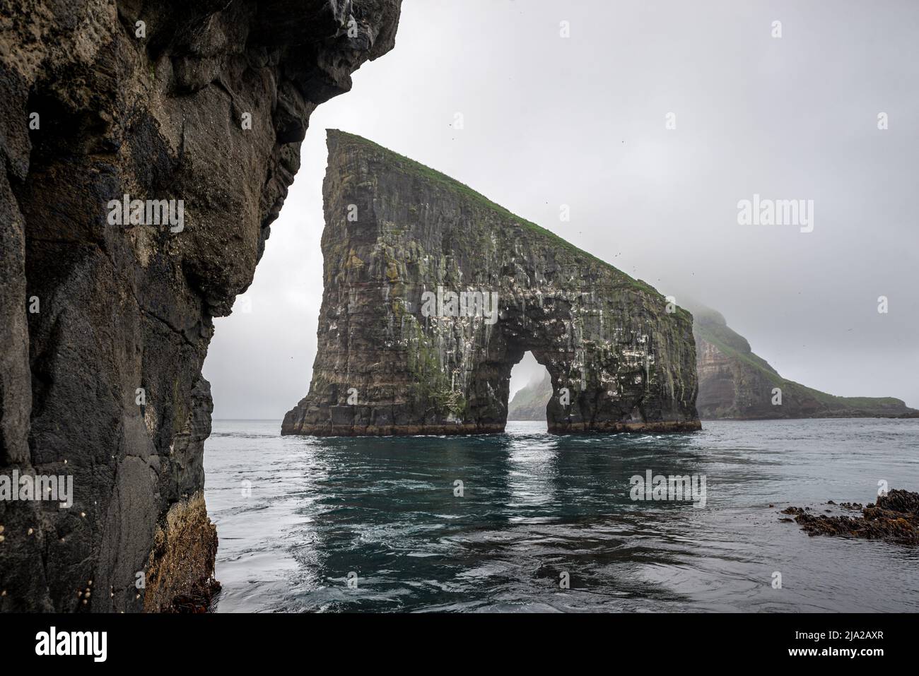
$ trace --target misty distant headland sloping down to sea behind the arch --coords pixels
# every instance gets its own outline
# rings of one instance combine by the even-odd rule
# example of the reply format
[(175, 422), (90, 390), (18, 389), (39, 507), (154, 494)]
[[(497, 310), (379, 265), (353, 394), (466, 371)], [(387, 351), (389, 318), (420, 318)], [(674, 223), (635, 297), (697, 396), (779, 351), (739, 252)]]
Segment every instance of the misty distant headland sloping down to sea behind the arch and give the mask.
[(719, 312), (696, 303), (687, 307), (694, 319), (703, 420), (919, 415), (892, 397), (835, 397), (781, 377)]

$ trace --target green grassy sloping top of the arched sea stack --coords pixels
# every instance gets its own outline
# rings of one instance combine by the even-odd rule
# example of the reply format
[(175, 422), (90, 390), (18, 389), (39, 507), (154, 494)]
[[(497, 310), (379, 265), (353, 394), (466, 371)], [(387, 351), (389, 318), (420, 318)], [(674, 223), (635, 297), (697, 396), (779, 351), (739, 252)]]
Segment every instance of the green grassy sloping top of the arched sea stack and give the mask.
[(647, 282), (644, 282), (641, 279), (635, 279), (627, 275), (626, 273), (619, 270), (618, 267), (609, 265), (606, 261), (600, 258), (597, 258), (594, 254), (585, 252), (584, 249), (579, 249), (578, 247), (574, 246), (573, 243), (568, 242), (562, 237), (559, 237), (557, 234), (555, 234), (554, 232), (550, 230), (546, 230), (545, 228), (534, 223), (533, 221), (520, 218), (519, 216), (517, 216), (515, 213), (511, 212), (507, 208), (502, 207), (500, 204), (493, 202), (488, 197), (485, 197), (484, 195), (482, 195), (482, 193), (473, 190), (470, 186), (467, 186), (464, 183), (460, 183), (455, 178), (450, 178), (446, 174), (441, 174), (436, 169), (432, 169), (429, 166), (425, 166), (425, 164), (422, 164), (420, 162), (415, 162), (413, 159), (409, 157), (405, 157), (404, 155), (401, 155), (398, 152), (391, 151), (389, 148), (384, 148), (379, 143), (374, 143), (373, 141), (370, 141), (369, 139), (365, 139), (363, 136), (357, 136), (357, 134), (348, 133), (347, 131), (342, 131), (342, 130), (326, 130), (326, 133), (329, 135), (330, 138), (333, 136), (338, 136), (338, 137), (341, 137), (342, 139), (345, 139), (347, 142), (359, 143), (361, 145), (368, 146), (369, 148), (372, 148), (375, 151), (382, 152), (383, 154), (391, 158), (392, 163), (394, 165), (397, 165), (400, 170), (407, 172), (409, 174), (421, 176), (425, 178), (426, 181), (429, 181), (430, 183), (434, 183), (434, 184), (437, 184), (438, 186), (444, 187), (461, 197), (465, 197), (469, 199), (471, 202), (477, 203), (479, 206), (489, 208), (505, 216), (509, 220), (515, 220), (522, 227), (528, 229), (529, 231), (533, 231), (534, 233), (539, 234), (543, 237), (546, 237), (547, 239), (550, 240), (550, 242), (555, 243), (559, 247), (571, 252), (572, 254), (584, 256), (584, 258), (594, 261), (596, 264), (602, 265), (606, 267), (607, 269), (613, 271), (614, 273), (616, 273), (617, 276), (619, 276), (622, 279), (623, 282), (625, 282), (630, 287), (634, 287), (640, 291), (646, 291), (648, 293), (660, 295), (660, 292), (656, 288), (648, 284)]

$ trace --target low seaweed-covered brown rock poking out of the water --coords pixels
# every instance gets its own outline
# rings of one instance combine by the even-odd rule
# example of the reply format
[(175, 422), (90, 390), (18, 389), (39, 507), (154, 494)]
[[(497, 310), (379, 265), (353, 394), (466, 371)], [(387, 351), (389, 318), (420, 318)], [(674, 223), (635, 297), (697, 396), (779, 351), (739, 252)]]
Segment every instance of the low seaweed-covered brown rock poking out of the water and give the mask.
[(919, 493), (891, 490), (887, 495), (879, 496), (876, 503), (865, 507), (849, 502), (839, 506), (848, 510), (861, 509), (862, 515), (816, 515), (810, 513), (808, 507), (788, 507), (782, 513), (794, 514), (794, 521), (808, 535), (840, 535), (885, 540), (900, 545), (919, 545)]

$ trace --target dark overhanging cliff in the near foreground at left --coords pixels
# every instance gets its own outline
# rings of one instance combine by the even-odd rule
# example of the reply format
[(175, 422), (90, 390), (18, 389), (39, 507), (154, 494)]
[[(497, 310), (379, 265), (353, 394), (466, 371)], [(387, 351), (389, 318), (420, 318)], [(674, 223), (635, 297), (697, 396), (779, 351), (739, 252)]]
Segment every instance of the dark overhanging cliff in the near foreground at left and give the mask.
[(0, 500), (0, 610), (206, 600), (211, 318), (399, 5), (0, 0), (0, 490), (73, 481)]

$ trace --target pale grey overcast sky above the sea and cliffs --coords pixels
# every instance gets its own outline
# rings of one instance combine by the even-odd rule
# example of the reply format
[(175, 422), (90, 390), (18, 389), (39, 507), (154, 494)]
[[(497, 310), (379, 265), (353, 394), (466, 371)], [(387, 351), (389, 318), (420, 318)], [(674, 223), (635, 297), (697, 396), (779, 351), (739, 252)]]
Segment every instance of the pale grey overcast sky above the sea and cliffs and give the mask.
[[(720, 310), (784, 377), (919, 408), (917, 35), (917, 2), (404, 0), (395, 49), (312, 115), (251, 311), (215, 320), (214, 417), (309, 389), (326, 128)], [(754, 194), (812, 199), (813, 231), (738, 224)]]

